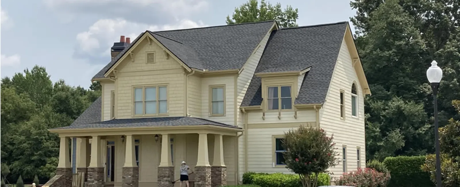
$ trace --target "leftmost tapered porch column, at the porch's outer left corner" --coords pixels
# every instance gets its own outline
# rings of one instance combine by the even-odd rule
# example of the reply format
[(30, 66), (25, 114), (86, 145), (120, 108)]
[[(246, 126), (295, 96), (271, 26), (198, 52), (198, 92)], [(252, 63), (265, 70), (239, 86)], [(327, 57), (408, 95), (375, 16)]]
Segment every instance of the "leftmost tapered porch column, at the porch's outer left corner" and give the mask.
[(72, 166), (70, 165), (69, 137), (60, 137), (59, 163), (56, 168), (56, 175), (62, 175), (62, 185), (72, 186)]

